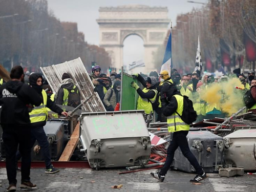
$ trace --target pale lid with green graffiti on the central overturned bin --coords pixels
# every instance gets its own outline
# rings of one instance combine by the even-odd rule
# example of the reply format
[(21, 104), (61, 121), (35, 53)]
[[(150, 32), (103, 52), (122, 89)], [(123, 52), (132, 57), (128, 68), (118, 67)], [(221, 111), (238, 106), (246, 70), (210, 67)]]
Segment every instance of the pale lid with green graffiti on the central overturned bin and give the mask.
[(81, 135), (90, 139), (149, 137), (144, 111), (82, 113)]

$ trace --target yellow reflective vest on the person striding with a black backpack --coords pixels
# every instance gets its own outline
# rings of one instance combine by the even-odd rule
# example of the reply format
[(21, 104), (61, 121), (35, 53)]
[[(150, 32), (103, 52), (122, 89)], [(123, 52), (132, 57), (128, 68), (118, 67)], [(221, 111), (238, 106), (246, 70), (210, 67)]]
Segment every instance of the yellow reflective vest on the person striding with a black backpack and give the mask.
[[(174, 97), (176, 98), (178, 103), (178, 108), (176, 112), (182, 115), (183, 96), (174, 95)], [(176, 112), (167, 117), (168, 132), (189, 131), (189, 125), (186, 124)]]

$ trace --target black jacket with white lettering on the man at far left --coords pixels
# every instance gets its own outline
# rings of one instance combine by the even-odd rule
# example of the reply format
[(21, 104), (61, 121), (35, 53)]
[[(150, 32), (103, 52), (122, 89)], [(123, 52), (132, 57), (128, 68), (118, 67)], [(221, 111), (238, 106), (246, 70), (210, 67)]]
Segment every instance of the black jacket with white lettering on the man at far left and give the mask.
[(8, 127), (30, 126), (28, 105), (39, 106), (42, 97), (28, 84), (18, 80), (10, 80), (0, 88), (0, 104), (2, 106), (1, 125)]

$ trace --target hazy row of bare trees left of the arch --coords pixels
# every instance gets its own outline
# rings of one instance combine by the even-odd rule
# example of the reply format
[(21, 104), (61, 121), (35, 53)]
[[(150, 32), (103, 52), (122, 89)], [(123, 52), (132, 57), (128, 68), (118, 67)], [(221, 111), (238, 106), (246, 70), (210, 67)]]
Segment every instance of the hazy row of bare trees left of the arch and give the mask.
[(39, 71), (77, 57), (88, 72), (92, 62), (103, 71), (111, 66), (109, 54), (88, 45), (77, 23), (60, 22), (48, 11), (46, 0), (0, 0), (0, 63), (5, 68), (22, 65)]

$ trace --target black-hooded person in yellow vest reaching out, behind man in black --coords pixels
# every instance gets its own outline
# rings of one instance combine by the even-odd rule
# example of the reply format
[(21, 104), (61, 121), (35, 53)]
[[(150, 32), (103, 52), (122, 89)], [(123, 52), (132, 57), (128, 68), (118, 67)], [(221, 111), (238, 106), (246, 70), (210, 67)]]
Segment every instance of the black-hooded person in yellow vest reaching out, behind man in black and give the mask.
[[(59, 172), (59, 170), (53, 167), (51, 163), (51, 154), (49, 151), (49, 143), (44, 131), (44, 126), (46, 125), (48, 111), (47, 108), (53, 112), (68, 116), (67, 112), (64, 112), (59, 108), (46, 94), (45, 90), (42, 89), (42, 75), (40, 73), (33, 73), (29, 76), (29, 84), (37, 93), (42, 95), (43, 102), (39, 106), (34, 106), (33, 110), (29, 113), (31, 122), (31, 147), (33, 147), (35, 141), (38, 144), (44, 154), (46, 172), (48, 174), (54, 174)], [(19, 153), (16, 155), (16, 160), (20, 158)]]

